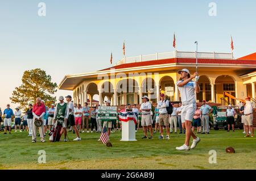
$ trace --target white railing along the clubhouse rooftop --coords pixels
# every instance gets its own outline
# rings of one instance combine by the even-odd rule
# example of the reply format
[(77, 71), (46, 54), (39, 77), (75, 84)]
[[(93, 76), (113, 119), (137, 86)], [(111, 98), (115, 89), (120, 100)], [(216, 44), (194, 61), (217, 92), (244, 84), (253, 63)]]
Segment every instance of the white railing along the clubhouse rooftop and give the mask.
[[(196, 58), (196, 52), (164, 52), (147, 55), (139, 55), (135, 57), (124, 57), (118, 61), (114, 66), (121, 64), (129, 64), (134, 62), (143, 62), (151, 60), (164, 60), (168, 58)], [(197, 58), (209, 58), (209, 59), (228, 59), (233, 60), (233, 53), (216, 53), (216, 52), (197, 52)]]

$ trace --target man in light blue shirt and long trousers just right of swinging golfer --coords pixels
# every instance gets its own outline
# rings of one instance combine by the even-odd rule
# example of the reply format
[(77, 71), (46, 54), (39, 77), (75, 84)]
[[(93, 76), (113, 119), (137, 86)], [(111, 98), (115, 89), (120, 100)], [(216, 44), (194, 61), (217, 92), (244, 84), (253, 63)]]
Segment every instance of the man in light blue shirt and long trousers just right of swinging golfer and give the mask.
[(202, 121), (203, 121), (203, 132), (201, 134), (209, 134), (209, 113), (212, 112), (212, 107), (206, 104), (206, 101), (203, 100), (203, 105), (200, 108), (202, 112)]

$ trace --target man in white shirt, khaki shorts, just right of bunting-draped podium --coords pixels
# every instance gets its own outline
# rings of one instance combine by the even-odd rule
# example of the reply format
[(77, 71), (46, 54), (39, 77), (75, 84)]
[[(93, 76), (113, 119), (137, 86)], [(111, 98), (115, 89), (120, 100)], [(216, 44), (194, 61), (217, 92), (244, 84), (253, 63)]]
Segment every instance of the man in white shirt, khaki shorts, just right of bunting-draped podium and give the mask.
[[(144, 131), (144, 138), (152, 139), (153, 138), (153, 129), (152, 129), (152, 117), (150, 115), (151, 113), (151, 103), (149, 102), (148, 97), (145, 95), (142, 97), (143, 103), (141, 104), (141, 108), (139, 108), (139, 112), (142, 113), (141, 117), (141, 125), (143, 127)], [(147, 137), (147, 129), (150, 129), (150, 136)]]

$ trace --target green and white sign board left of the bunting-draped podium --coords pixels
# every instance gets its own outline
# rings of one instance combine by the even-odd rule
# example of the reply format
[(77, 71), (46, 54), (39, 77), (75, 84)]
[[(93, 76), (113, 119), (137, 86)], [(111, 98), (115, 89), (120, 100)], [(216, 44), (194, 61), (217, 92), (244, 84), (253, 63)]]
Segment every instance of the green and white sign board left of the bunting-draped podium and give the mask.
[(99, 107), (98, 119), (101, 119), (101, 121), (117, 120), (117, 107), (110, 107), (110, 106)]

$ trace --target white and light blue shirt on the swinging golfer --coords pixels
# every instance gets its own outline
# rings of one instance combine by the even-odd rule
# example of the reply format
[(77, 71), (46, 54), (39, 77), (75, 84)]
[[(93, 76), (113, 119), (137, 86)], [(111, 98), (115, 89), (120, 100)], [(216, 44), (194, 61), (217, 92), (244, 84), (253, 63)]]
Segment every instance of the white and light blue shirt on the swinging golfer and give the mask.
[[(183, 81), (177, 81), (176, 85), (178, 85), (180, 82)], [(178, 87), (181, 95), (181, 102), (196, 102), (195, 100), (195, 87), (196, 82), (190, 81), (183, 87)]]

